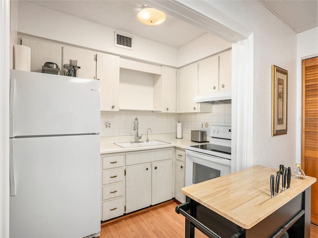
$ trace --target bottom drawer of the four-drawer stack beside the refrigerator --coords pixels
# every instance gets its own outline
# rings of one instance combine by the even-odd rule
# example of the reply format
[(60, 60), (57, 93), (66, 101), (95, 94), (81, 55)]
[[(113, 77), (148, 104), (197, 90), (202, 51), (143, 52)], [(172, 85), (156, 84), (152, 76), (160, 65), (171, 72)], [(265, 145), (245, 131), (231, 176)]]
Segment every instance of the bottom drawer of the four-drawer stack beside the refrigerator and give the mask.
[(120, 197), (103, 202), (103, 221), (119, 217), (124, 214), (124, 198)]

